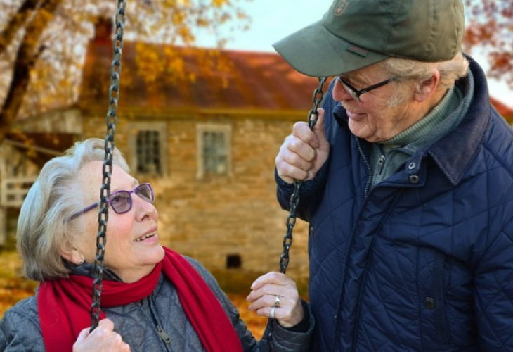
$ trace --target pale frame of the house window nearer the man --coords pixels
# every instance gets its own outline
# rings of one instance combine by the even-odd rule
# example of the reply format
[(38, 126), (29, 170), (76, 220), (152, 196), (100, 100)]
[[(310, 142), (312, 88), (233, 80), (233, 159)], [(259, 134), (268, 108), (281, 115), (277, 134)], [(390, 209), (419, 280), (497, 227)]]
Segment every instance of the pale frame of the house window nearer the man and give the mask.
[(197, 179), (202, 179), (205, 176), (204, 170), (204, 154), (203, 154), (203, 134), (204, 132), (221, 132), (224, 134), (226, 141), (226, 174), (212, 175), (214, 177), (231, 177), (232, 173), (232, 127), (231, 125), (219, 125), (214, 123), (198, 124), (196, 126), (196, 161), (197, 161)]

